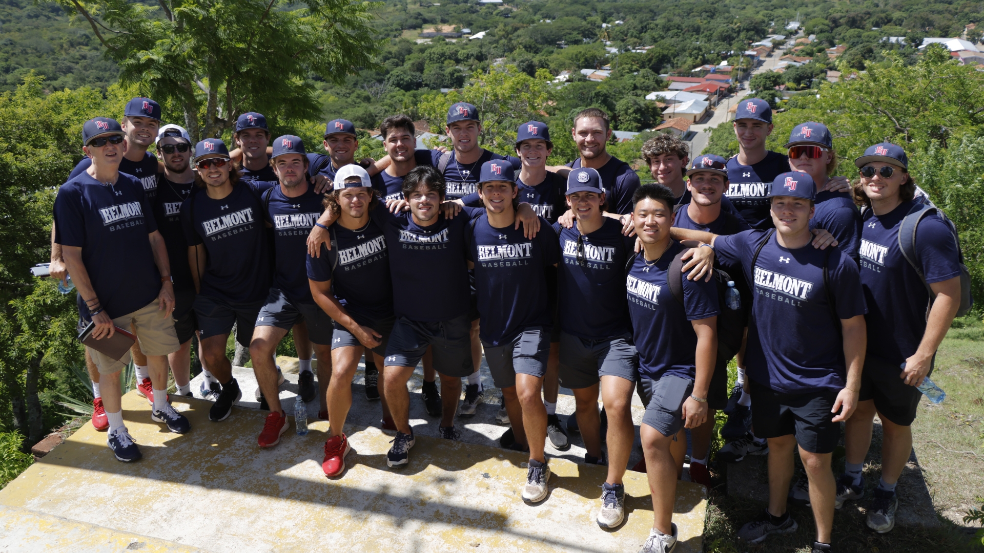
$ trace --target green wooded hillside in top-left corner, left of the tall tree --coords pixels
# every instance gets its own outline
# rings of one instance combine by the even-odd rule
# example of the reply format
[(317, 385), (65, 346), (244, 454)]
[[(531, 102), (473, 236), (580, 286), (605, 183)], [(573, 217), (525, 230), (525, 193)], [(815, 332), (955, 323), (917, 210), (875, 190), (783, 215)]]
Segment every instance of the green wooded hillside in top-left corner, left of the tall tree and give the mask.
[(104, 90), (118, 73), (88, 23), (70, 23), (54, 2), (0, 0), (0, 92), (13, 91), (31, 69), (49, 91)]

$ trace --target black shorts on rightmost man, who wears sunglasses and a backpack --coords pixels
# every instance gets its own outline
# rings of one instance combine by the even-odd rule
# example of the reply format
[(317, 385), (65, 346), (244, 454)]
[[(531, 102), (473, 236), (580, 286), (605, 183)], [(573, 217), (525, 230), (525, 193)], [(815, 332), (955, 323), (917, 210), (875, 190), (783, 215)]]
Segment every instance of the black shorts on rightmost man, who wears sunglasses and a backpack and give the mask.
[[(930, 361), (929, 374), (933, 374), (935, 363), (936, 355)], [(899, 378), (901, 374), (901, 364), (896, 365), (881, 357), (866, 355), (858, 400), (874, 399), (875, 408), (881, 416), (899, 426), (911, 426), (916, 419), (916, 409), (919, 407), (922, 392), (915, 386), (905, 384), (905, 380)]]

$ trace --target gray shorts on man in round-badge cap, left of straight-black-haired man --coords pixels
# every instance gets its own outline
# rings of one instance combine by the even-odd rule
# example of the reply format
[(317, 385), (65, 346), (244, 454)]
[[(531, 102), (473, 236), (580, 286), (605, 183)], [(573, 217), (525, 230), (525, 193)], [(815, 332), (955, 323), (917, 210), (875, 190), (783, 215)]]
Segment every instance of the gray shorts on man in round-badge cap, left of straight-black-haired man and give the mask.
[(560, 385), (576, 390), (597, 384), (612, 375), (629, 382), (639, 380), (639, 353), (632, 336), (584, 339), (560, 335)]

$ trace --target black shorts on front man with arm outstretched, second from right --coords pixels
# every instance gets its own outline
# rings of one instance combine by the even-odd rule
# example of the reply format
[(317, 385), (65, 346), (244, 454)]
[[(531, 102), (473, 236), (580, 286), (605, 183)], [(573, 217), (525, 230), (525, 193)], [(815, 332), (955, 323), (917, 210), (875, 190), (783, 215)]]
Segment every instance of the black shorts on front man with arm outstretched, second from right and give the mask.
[(833, 422), (833, 390), (783, 394), (752, 380), (752, 425), (758, 438), (794, 434), (804, 450), (833, 453), (840, 438), (840, 424)]

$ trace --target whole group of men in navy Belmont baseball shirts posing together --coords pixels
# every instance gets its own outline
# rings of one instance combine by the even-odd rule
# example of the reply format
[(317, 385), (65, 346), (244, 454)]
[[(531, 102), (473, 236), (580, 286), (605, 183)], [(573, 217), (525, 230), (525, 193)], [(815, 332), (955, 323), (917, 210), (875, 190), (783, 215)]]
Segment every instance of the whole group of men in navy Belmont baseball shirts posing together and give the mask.
[[(654, 519), (642, 551), (675, 548), (684, 432), (690, 477), (709, 486), (714, 413), (724, 409), (719, 459), (769, 455), (769, 507), (739, 537), (794, 531), (786, 504), (799, 494), (816, 522), (813, 551), (826, 552), (834, 509), (866, 493), (868, 525), (892, 529), (916, 387), (960, 307), (959, 250), (946, 219), (916, 197), (898, 146), (869, 148), (851, 184), (831, 176), (837, 157), (823, 124), (798, 125), (788, 154), (766, 149), (768, 102), (741, 100), (733, 126), (730, 159), (691, 159), (673, 135), (649, 140), (642, 154), (656, 183), (641, 185), (606, 152), (612, 132), (595, 108), (575, 117), (580, 156), (565, 166), (547, 165), (553, 144), (537, 121), (517, 129), (515, 156), (482, 149), (478, 110), (464, 102), (448, 112), (450, 150), (415, 150), (412, 120), (396, 115), (380, 128), (387, 155), (359, 164), (355, 128), (342, 119), (315, 153), (296, 136), (271, 144), (265, 117), (246, 113), (230, 152), (218, 139), (193, 145), (181, 127), (160, 126), (154, 100), (134, 98), (122, 124), (85, 123), (86, 157), (55, 200), (52, 275), (72, 276), (80, 325), (92, 323), (94, 338), (136, 335), (138, 391), (172, 432), (190, 424), (168, 403), (168, 370), (190, 396), (193, 339), (211, 420), (242, 397), (225, 352), (235, 326), (270, 410), (258, 445), (276, 446), (287, 417), (274, 354), (293, 331), (300, 396), (317, 396), (330, 422), (325, 474), (344, 473), (363, 355), (366, 396), (382, 399), (382, 426), (395, 432), (387, 463), (399, 467), (414, 445), (407, 382), (417, 364), (428, 412), (456, 440), (456, 414), (485, 398), (484, 352), (502, 391), (498, 416), (511, 425), (500, 443), (529, 455), (524, 501), (547, 498), (546, 441), (565, 450), (579, 431), (584, 461), (607, 465), (596, 521), (622, 524), (638, 393), (645, 459), (636, 468), (646, 470)], [(87, 358), (93, 425), (108, 430), (116, 459), (140, 459), (120, 406), (130, 359), (88, 347)], [(561, 385), (577, 403), (566, 428)], [(882, 473), (866, 492), (876, 412)], [(835, 478), (841, 421), (846, 461)], [(790, 492), (797, 448), (806, 480)]]

